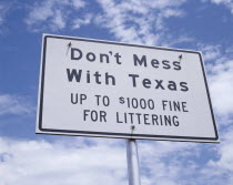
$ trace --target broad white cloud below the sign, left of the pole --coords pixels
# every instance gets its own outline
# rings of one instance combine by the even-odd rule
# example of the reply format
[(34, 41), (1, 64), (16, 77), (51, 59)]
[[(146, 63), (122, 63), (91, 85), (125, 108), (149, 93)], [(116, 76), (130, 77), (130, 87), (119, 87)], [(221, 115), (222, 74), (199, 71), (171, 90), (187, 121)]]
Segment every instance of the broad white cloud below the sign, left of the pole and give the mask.
[(126, 184), (124, 148), (112, 142), (82, 141), (67, 145), (0, 138), (0, 184)]

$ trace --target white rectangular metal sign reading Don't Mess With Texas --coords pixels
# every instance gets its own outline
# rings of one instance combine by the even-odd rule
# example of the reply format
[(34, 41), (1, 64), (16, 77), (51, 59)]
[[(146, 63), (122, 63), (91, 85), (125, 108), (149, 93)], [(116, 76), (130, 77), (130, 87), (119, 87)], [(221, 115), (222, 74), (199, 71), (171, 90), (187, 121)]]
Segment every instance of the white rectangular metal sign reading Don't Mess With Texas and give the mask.
[(217, 142), (201, 53), (44, 34), (37, 133)]

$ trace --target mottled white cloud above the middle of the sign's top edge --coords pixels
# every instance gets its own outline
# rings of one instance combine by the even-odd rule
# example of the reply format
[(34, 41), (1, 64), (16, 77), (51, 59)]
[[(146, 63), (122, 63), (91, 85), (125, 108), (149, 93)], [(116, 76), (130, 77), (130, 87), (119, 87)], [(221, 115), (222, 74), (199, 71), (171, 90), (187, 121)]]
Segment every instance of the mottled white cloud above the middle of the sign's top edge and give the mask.
[(164, 20), (182, 17), (180, 7), (185, 2), (175, 1), (119, 1), (98, 0), (103, 9), (95, 23), (110, 29), (113, 35), (123, 42), (160, 45), (168, 31)]

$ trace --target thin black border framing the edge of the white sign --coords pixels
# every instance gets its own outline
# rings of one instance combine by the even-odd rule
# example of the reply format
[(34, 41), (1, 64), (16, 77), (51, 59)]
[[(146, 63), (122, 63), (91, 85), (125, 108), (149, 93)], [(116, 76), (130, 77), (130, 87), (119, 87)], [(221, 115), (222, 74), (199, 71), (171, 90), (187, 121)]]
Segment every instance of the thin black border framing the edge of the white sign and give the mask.
[[(180, 52), (188, 52), (188, 53), (195, 53), (199, 54), (200, 56), (200, 62), (202, 66), (202, 72), (203, 72), (203, 78), (204, 78), (204, 83), (205, 83), (205, 89), (207, 93), (207, 99), (209, 99), (209, 105), (212, 114), (212, 121), (213, 121), (213, 126), (214, 126), (214, 132), (215, 132), (215, 137), (189, 137), (189, 136), (175, 136), (175, 135), (149, 135), (149, 134), (123, 134), (123, 133), (107, 133), (107, 132), (87, 132), (87, 131), (72, 131), (72, 130), (54, 130), (54, 129), (43, 129), (42, 127), (42, 113), (43, 113), (43, 91), (44, 91), (44, 72), (45, 72), (45, 54), (47, 54), (47, 40), (48, 38), (53, 38), (53, 39), (64, 39), (64, 40), (75, 40), (75, 41), (85, 41), (85, 42), (98, 42), (98, 43), (105, 43), (105, 44), (115, 44), (115, 45), (125, 45), (125, 47), (138, 47), (138, 48), (148, 48), (148, 49), (155, 49), (155, 50), (166, 50), (166, 51), (180, 51)], [(89, 39), (81, 39), (81, 38), (69, 38), (69, 37), (59, 37), (59, 35), (48, 35), (45, 34), (43, 37), (43, 50), (42, 50), (42, 65), (41, 65), (41, 76), (40, 76), (40, 90), (39, 90), (39, 96), (40, 96), (40, 102), (39, 102), (39, 117), (38, 117), (38, 129), (44, 134), (62, 134), (62, 135), (87, 135), (87, 136), (104, 136), (104, 137), (121, 137), (121, 138), (140, 138), (142, 140), (170, 140), (170, 141), (217, 141), (219, 135), (217, 135), (217, 130), (216, 130), (216, 124), (215, 124), (215, 119), (213, 114), (213, 109), (212, 109), (212, 103), (210, 99), (210, 92), (207, 88), (207, 82), (206, 82), (206, 76), (205, 76), (205, 71), (204, 71), (204, 65), (202, 61), (202, 55), (197, 51), (188, 51), (188, 50), (180, 50), (180, 49), (166, 49), (166, 48), (156, 48), (156, 47), (146, 47), (146, 45), (139, 45), (139, 44), (129, 44), (129, 43), (120, 43), (120, 42), (112, 42), (112, 41), (103, 41), (103, 40), (89, 40)], [(67, 133), (67, 134), (65, 134)], [(69, 133), (69, 134), (68, 134)], [(173, 140), (172, 140), (173, 138)]]

